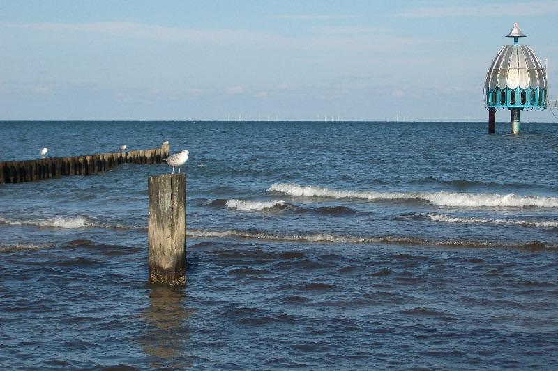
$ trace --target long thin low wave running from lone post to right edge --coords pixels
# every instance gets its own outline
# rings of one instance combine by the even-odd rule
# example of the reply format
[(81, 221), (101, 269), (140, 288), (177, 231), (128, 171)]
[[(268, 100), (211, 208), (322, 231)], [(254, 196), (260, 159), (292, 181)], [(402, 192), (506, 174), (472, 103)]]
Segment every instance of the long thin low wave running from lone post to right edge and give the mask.
[(350, 243), (350, 244), (394, 244), (394, 245), (430, 245), (430, 246), (453, 246), (469, 248), (558, 248), (558, 245), (545, 244), (544, 242), (489, 242), (473, 241), (466, 239), (446, 239), (433, 240), (418, 237), (402, 236), (371, 236), (356, 237), (348, 235), (333, 235), (330, 233), (312, 233), (301, 235), (282, 235), (272, 232), (251, 231), (251, 230), (202, 230), (188, 229), (186, 235), (193, 238), (239, 238), (239, 239), (259, 239), (272, 242), (310, 242), (317, 244), (329, 243)]

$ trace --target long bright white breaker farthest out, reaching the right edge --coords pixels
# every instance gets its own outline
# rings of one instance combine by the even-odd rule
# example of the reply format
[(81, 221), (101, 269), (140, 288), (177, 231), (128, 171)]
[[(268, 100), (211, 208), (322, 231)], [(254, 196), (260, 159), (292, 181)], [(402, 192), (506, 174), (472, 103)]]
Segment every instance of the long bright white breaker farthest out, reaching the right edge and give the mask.
[(432, 205), (449, 207), (558, 207), (558, 198), (539, 196), (518, 196), (515, 194), (460, 194), (439, 192), (375, 192), (344, 191), (324, 187), (308, 187), (299, 184), (273, 183), (267, 189), (289, 196), (357, 198), (363, 200), (421, 199)]

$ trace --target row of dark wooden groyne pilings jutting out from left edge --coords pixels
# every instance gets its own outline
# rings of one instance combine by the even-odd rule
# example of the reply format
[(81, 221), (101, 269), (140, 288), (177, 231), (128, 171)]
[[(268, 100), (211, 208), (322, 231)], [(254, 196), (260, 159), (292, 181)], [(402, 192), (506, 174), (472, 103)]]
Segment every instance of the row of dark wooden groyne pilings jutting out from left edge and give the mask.
[(70, 175), (91, 175), (121, 164), (160, 164), (169, 156), (169, 145), (151, 150), (100, 153), (73, 157), (47, 157), (26, 161), (0, 161), (0, 184), (35, 182)]

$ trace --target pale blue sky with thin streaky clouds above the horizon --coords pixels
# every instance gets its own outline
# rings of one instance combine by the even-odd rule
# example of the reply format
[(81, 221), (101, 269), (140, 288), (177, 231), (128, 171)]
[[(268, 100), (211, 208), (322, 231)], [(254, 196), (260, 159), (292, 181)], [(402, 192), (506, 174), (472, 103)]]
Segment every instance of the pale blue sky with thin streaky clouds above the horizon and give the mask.
[(556, 99), (556, 19), (556, 0), (0, 0), (0, 120), (485, 121), (513, 22)]

